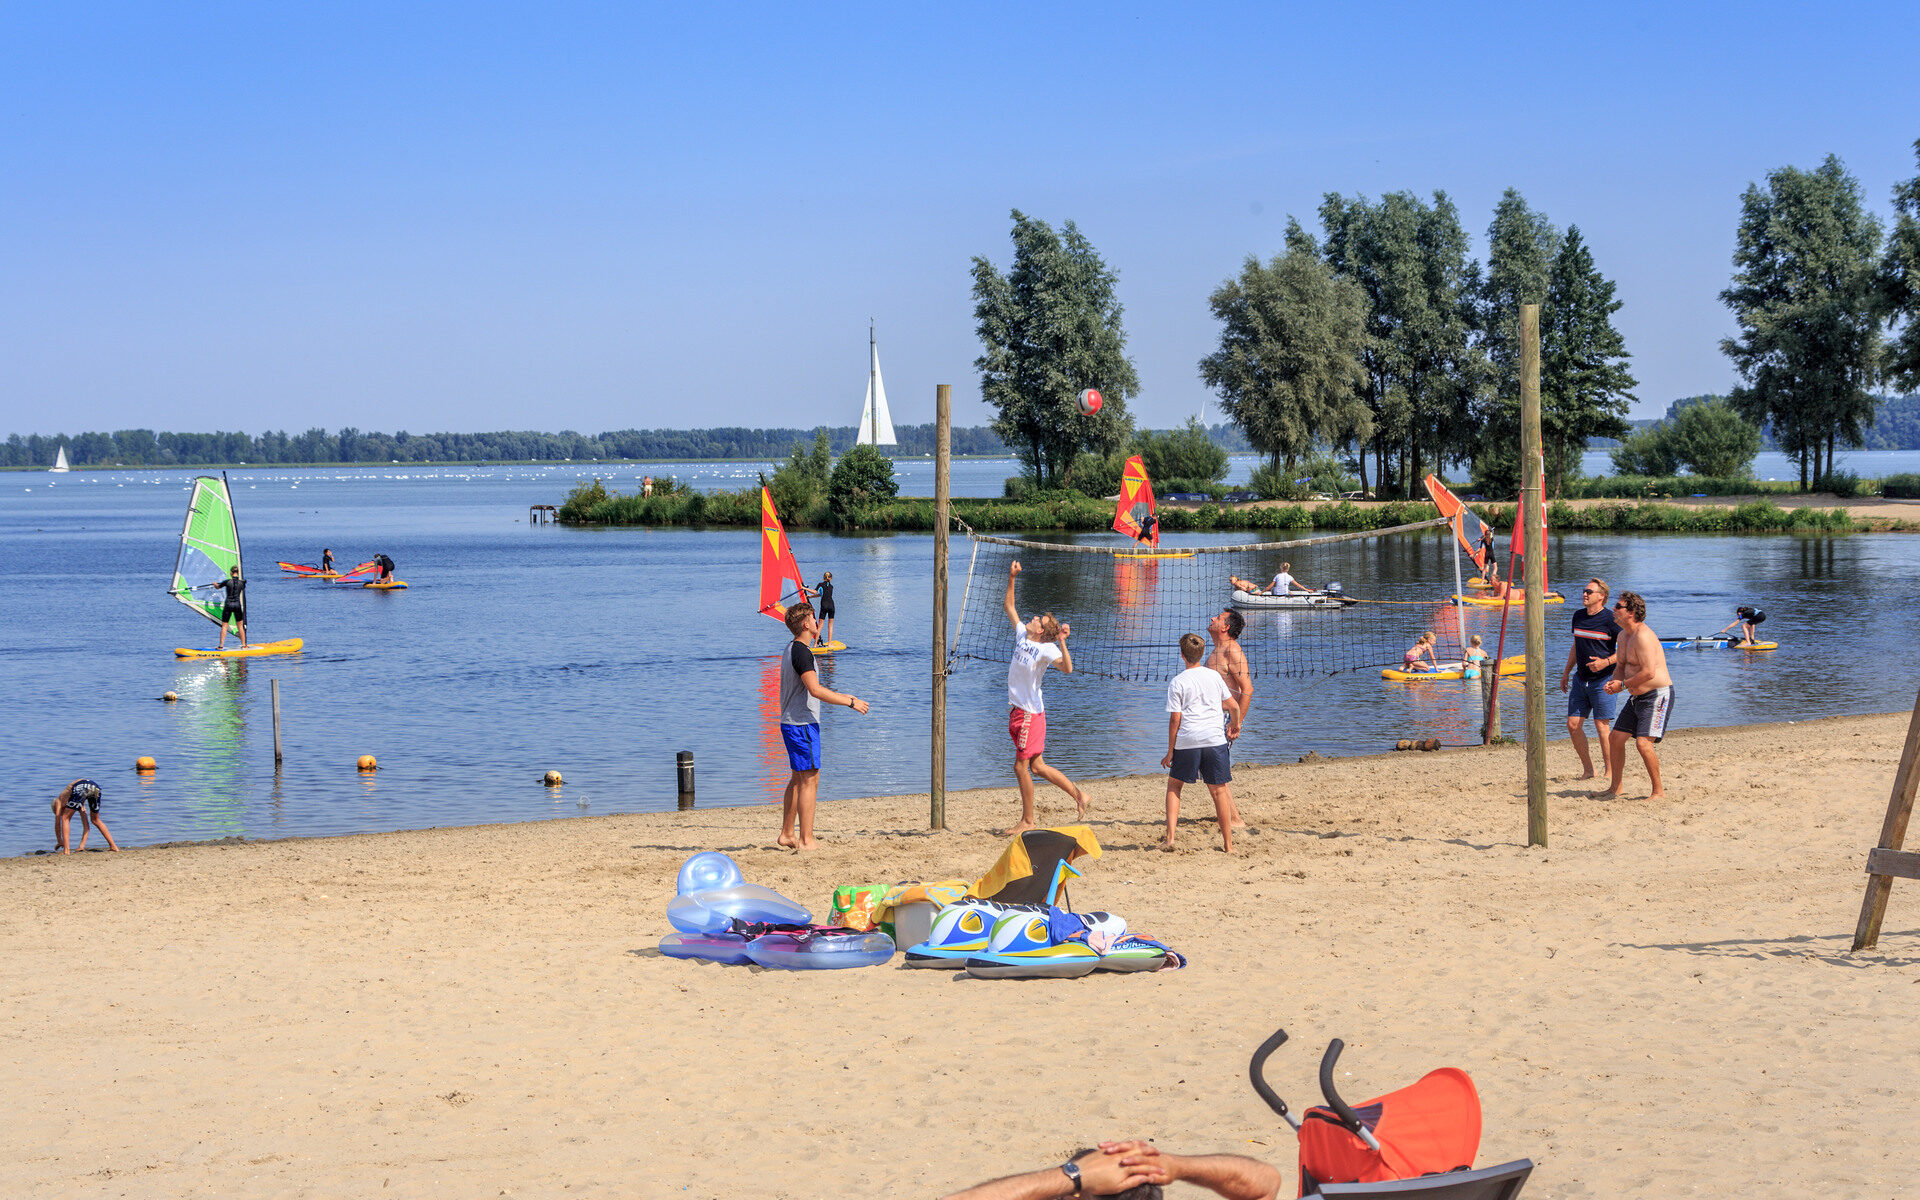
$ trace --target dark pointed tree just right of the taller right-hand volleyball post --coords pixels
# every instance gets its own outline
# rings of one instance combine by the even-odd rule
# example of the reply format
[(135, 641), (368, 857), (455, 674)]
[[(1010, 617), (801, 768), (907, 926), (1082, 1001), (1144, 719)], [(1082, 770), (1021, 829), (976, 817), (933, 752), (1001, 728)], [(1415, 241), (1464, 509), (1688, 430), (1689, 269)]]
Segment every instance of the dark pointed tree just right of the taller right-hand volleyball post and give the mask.
[(1594, 269), (1580, 228), (1569, 225), (1540, 307), (1540, 444), (1553, 495), (1569, 474), (1580, 474), (1588, 438), (1624, 438), (1630, 428), (1634, 376), (1626, 340), (1613, 328), (1617, 311), (1613, 282)]

